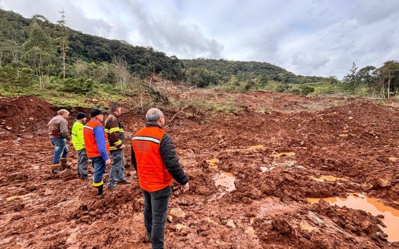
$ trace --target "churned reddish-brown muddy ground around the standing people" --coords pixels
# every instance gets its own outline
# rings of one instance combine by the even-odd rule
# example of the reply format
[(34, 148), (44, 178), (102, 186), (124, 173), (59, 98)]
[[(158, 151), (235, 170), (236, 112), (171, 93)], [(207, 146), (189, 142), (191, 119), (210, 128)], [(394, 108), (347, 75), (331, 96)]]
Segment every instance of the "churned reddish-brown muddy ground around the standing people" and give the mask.
[[(362, 193), (399, 209), (398, 108), (264, 92), (204, 98), (229, 98), (242, 109), (189, 107), (166, 128), (191, 187), (182, 194), (173, 183), (168, 248), (399, 247), (383, 232), (383, 217), (307, 201)], [(46, 124), (56, 110), (33, 96), (0, 97), (0, 248), (150, 248), (142, 242), (143, 198), (129, 146), (145, 110), (121, 116), (132, 184), (101, 197), (77, 178), (73, 146), (72, 169), (50, 174)], [(178, 112), (164, 109), (169, 119)], [(282, 152), (294, 153), (276, 155)], [(311, 178), (323, 175), (342, 179)], [(234, 186), (225, 185), (229, 179)]]

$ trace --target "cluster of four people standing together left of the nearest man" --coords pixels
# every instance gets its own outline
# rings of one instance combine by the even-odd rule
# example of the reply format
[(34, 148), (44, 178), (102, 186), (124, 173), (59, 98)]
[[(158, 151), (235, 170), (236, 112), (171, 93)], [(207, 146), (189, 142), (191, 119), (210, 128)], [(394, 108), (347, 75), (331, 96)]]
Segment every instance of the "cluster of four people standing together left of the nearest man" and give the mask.
[[(108, 115), (104, 126), (102, 126), (102, 122), (105, 111), (98, 108), (91, 110), (90, 121), (87, 123), (86, 115), (78, 113), (76, 122), (72, 126), (71, 135), (66, 121), (69, 112), (65, 109), (58, 111), (58, 115), (48, 123), (48, 135), (54, 146), (51, 164), (53, 174), (69, 167), (67, 164), (68, 140), (72, 141), (77, 152), (77, 174), (80, 178), (91, 179), (91, 175), (87, 171), (90, 158), (94, 167), (93, 186), (98, 188), (99, 195), (103, 193), (103, 176), (106, 166), (111, 165), (108, 189), (116, 189), (117, 182), (130, 183), (125, 175), (125, 160), (123, 157), (125, 135), (123, 125), (119, 121), (122, 108), (114, 103), (110, 105), (110, 111), (111, 114)], [(108, 152), (111, 154), (112, 164)]]

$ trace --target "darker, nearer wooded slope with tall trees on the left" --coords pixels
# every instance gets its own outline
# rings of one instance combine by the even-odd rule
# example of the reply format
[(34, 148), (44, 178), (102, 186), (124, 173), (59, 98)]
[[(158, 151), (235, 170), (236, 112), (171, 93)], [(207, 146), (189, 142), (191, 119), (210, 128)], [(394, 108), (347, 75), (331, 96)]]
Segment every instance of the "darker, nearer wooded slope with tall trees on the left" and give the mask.
[[(56, 24), (42, 15), (24, 18), (0, 9), (0, 84), (5, 91), (21, 92), (37, 84), (93, 84), (125, 88), (135, 78), (159, 74), (180, 80), (182, 62), (151, 47), (83, 34), (66, 25), (64, 11)], [(87, 83), (87, 84), (86, 84)], [(62, 90), (61, 89), (61, 90)], [(74, 91), (75, 91), (74, 90)]]

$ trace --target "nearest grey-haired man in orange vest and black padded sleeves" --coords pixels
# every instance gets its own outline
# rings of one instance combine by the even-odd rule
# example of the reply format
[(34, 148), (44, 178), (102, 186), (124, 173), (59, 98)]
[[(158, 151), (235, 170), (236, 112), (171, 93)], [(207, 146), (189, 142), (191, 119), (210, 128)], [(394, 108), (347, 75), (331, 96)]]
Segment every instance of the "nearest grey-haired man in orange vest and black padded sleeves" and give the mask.
[(189, 178), (175, 152), (172, 137), (162, 128), (164, 114), (157, 108), (146, 114), (146, 127), (134, 134), (131, 161), (144, 195), (144, 225), (153, 249), (164, 248), (164, 234), (172, 178), (183, 192), (189, 190)]

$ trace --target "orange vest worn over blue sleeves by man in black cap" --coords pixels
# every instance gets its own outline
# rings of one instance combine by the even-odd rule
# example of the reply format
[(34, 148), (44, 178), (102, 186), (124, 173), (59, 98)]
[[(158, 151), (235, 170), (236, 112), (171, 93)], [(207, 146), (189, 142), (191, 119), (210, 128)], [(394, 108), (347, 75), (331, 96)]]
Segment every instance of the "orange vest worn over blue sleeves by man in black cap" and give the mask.
[[(95, 127), (101, 126), (103, 129), (104, 127), (97, 122), (89, 121), (83, 127), (83, 140), (84, 146), (86, 147), (87, 157), (98, 157), (100, 156), (100, 152), (98, 151), (96, 138), (94, 137), (93, 130)], [(105, 147), (107, 152), (109, 152), (109, 142), (108, 142), (108, 135), (104, 129), (104, 136), (105, 136)]]

